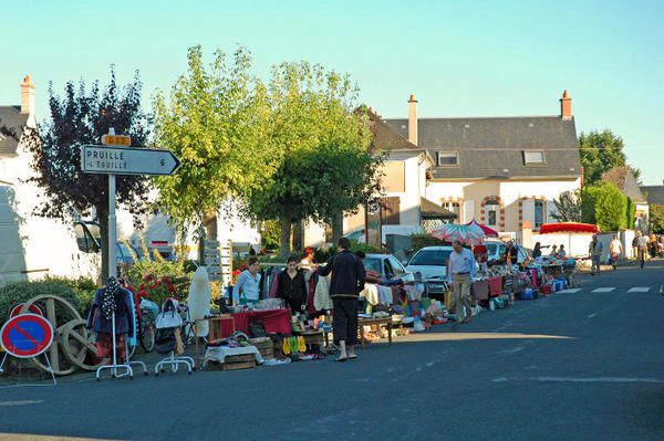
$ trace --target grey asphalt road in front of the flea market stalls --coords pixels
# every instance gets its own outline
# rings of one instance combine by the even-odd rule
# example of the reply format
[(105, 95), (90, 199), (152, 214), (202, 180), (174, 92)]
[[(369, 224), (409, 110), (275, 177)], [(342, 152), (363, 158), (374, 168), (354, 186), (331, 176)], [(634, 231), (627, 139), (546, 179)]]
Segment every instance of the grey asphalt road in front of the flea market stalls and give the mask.
[[(662, 440), (664, 264), (346, 364), (0, 389), (0, 432), (133, 440)], [(636, 288), (636, 290), (634, 290)], [(630, 292), (630, 290), (632, 292)]]

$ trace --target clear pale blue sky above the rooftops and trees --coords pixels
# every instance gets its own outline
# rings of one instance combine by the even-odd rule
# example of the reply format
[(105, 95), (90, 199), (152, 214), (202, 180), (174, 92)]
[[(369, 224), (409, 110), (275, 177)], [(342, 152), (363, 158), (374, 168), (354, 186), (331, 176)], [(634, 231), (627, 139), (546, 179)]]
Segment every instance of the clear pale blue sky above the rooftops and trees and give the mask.
[[(6, 3), (6, 2), (3, 2)], [(256, 72), (309, 60), (347, 72), (364, 103), (406, 116), (554, 115), (564, 88), (579, 130), (611, 128), (649, 185), (664, 178), (662, 1), (18, 1), (2, 7), (0, 104), (33, 76), (121, 81), (145, 103), (186, 67), (187, 48), (250, 49)]]

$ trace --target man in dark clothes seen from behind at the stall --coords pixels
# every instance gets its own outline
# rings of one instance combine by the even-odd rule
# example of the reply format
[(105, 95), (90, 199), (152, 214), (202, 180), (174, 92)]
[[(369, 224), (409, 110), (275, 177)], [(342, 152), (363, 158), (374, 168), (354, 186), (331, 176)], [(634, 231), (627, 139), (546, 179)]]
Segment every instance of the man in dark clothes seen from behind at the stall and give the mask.
[(334, 340), (339, 342), (341, 354), (336, 361), (357, 358), (355, 344), (357, 343), (357, 294), (364, 290), (366, 272), (364, 264), (351, 252), (351, 241), (347, 238), (339, 239), (341, 252), (328, 261), (325, 266), (319, 269), (321, 276), (332, 273), (330, 282), (330, 297), (334, 304), (332, 325)]

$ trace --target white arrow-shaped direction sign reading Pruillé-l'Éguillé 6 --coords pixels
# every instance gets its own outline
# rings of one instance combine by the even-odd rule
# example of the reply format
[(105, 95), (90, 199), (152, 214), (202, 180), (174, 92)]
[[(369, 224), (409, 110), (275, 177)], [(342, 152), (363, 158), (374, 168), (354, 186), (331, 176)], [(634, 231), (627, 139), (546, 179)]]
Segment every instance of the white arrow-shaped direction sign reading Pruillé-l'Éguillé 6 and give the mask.
[(168, 176), (179, 164), (170, 150), (104, 146), (81, 148), (81, 168), (87, 174)]

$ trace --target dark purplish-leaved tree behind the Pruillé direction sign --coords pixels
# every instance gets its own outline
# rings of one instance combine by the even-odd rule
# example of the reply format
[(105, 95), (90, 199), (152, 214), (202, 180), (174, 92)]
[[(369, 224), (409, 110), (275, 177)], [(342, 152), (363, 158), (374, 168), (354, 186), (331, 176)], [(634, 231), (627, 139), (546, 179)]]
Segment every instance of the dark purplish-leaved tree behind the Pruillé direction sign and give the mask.
[[(141, 107), (142, 83), (136, 72), (134, 80), (120, 87), (111, 67), (111, 80), (100, 88), (94, 82), (90, 90), (68, 82), (62, 97), (49, 86), (51, 119), (30, 132), (25, 145), (32, 153), (34, 182), (46, 197), (37, 214), (69, 220), (70, 208), (83, 214), (94, 209), (102, 235), (102, 274), (108, 273), (108, 179), (105, 175), (90, 175), (81, 170), (81, 146), (98, 144), (102, 135), (114, 127), (115, 133), (132, 137), (132, 146), (145, 146), (148, 136), (146, 116)], [(144, 177), (118, 176), (116, 197), (132, 213), (145, 213), (148, 183)], [(115, 263), (113, 263), (115, 264)]]

